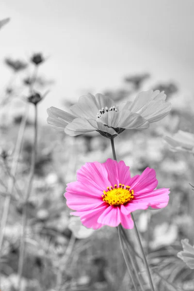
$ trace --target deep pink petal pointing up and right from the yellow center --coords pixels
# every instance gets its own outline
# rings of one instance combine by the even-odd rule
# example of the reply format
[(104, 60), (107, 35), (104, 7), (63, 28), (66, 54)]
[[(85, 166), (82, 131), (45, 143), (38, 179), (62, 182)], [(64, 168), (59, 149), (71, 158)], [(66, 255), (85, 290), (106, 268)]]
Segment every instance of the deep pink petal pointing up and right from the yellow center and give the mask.
[(133, 183), (130, 183), (131, 189), (136, 194), (143, 194), (148, 191), (154, 190), (158, 185), (156, 179), (156, 172), (154, 169), (147, 167), (144, 172)]

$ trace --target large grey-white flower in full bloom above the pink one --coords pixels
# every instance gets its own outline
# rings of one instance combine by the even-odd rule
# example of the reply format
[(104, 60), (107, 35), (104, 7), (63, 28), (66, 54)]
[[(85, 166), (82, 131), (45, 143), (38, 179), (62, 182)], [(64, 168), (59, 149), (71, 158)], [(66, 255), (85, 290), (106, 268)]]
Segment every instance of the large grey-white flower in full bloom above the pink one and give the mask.
[(113, 138), (125, 129), (147, 129), (149, 123), (161, 120), (170, 112), (171, 104), (165, 98), (164, 92), (149, 90), (140, 93), (134, 102), (118, 106), (107, 96), (88, 94), (70, 107), (71, 113), (50, 107), (47, 121), (70, 136), (97, 130)]

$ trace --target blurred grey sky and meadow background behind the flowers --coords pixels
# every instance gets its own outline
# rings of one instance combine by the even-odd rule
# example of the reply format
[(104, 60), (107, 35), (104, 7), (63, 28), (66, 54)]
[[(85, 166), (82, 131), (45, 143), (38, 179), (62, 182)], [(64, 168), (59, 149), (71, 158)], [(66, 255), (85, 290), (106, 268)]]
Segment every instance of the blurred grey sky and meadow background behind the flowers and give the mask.
[[(165, 209), (135, 212), (148, 262), (163, 278), (154, 273), (157, 290), (173, 290), (167, 289), (170, 282), (174, 290), (193, 291), (194, 274), (177, 253), (181, 239), (194, 244), (194, 192), (189, 184), (194, 183), (194, 157), (170, 151), (163, 137), (178, 129), (194, 133), (194, 1), (6, 0), (0, 2), (0, 20), (6, 17), (10, 21), (0, 29), (1, 224), (9, 195), (11, 200), (0, 250), (0, 290), (18, 290), (33, 104), (14, 178), (10, 173), (27, 110), (25, 80), (33, 76), (29, 60), (41, 53), (45, 62), (39, 65), (34, 88), (48, 94), (38, 104), (38, 150), (20, 290), (133, 291), (116, 228), (92, 232), (73, 223), (63, 196), (66, 183), (76, 179), (83, 163), (112, 157), (110, 142), (97, 132), (72, 138), (52, 129), (47, 108), (69, 111), (88, 92), (108, 95), (117, 104), (134, 100), (141, 91), (159, 89), (172, 103), (171, 113), (149, 129), (124, 131), (115, 139), (115, 148), (132, 176), (149, 166), (157, 172), (159, 187), (171, 188)], [(16, 72), (10, 60), (20, 60), (26, 68)], [(16, 187), (9, 193), (13, 180)], [(128, 233), (134, 242), (133, 230)], [(144, 277), (143, 265), (141, 270)]]

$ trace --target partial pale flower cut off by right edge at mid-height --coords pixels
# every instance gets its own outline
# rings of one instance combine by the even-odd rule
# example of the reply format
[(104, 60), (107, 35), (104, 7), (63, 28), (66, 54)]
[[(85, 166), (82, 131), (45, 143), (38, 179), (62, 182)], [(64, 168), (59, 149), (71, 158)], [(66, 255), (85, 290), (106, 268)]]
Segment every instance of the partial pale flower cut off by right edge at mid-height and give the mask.
[(172, 151), (189, 151), (194, 153), (194, 134), (178, 130), (173, 137), (165, 136), (164, 140)]

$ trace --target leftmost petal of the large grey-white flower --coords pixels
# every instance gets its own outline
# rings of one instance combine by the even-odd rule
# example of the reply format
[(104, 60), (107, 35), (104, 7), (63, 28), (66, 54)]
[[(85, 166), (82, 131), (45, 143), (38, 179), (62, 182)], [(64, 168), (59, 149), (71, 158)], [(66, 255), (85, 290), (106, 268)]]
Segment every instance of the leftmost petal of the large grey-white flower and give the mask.
[(55, 129), (64, 130), (66, 125), (72, 122), (76, 116), (65, 112), (56, 107), (50, 107), (47, 109), (47, 113), (49, 117), (47, 118), (47, 122)]

